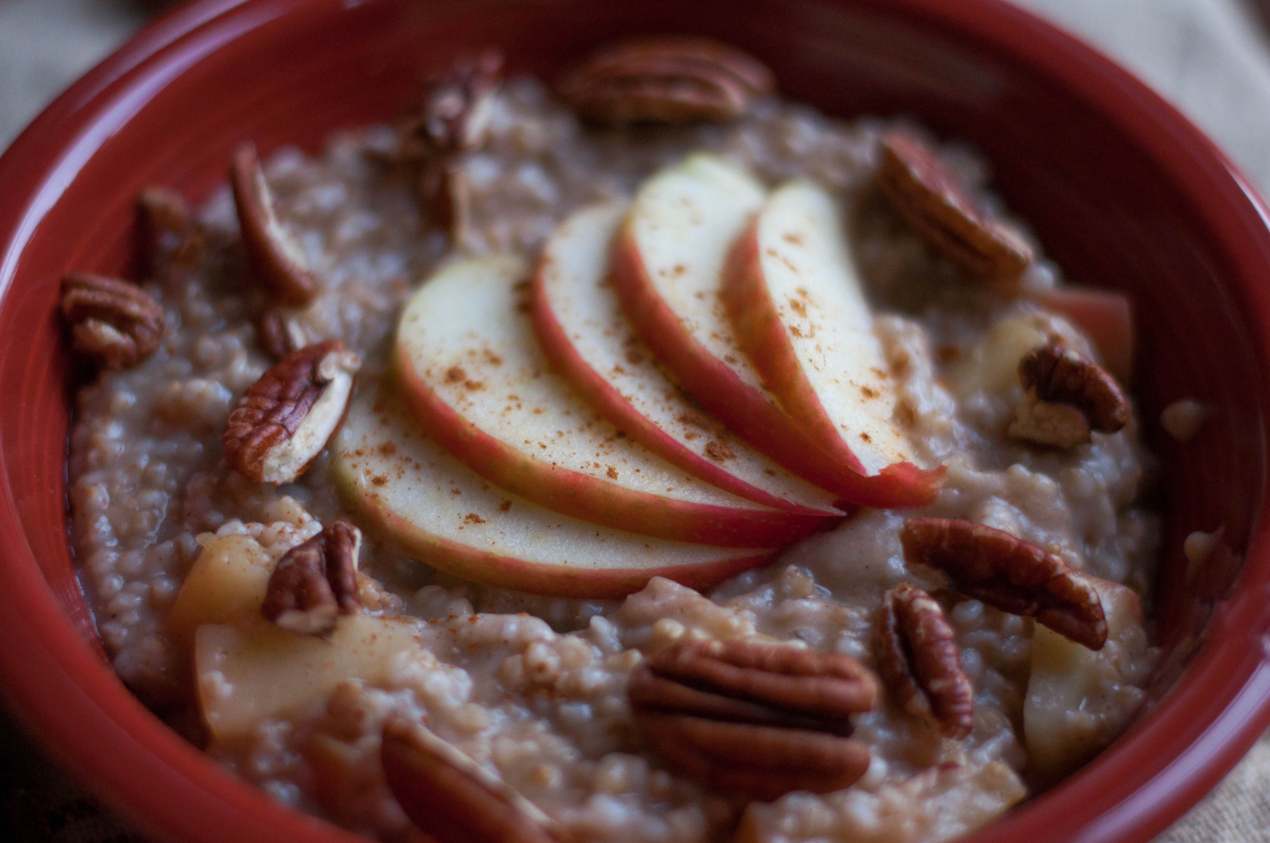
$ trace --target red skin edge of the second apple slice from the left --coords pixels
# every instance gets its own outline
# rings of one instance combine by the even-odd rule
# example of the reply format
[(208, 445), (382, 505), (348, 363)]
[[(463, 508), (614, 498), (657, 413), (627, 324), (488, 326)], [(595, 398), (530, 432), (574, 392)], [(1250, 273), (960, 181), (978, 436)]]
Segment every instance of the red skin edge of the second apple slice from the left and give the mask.
[(834, 523), (819, 513), (674, 500), (526, 457), (460, 416), (400, 355), (395, 366), (405, 405), (428, 437), (481, 477), (554, 512), (641, 536), (715, 547), (780, 547)]

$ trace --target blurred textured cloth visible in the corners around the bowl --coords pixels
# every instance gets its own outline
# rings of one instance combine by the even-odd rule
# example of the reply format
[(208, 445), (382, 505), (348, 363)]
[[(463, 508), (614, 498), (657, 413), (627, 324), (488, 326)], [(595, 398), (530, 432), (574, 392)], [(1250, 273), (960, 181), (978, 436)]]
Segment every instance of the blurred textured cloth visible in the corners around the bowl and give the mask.
[[(949, 0), (956, 3), (956, 0)], [(1270, 196), (1270, 38), (1241, 0), (1015, 0), (1172, 100)], [(1264, 3), (1265, 0), (1247, 0)], [(0, 0), (0, 149), (144, 20), (124, 0)], [(0, 710), (0, 839), (142, 843)], [(227, 842), (232, 843), (232, 842)], [(1270, 734), (1157, 843), (1270, 843)]]

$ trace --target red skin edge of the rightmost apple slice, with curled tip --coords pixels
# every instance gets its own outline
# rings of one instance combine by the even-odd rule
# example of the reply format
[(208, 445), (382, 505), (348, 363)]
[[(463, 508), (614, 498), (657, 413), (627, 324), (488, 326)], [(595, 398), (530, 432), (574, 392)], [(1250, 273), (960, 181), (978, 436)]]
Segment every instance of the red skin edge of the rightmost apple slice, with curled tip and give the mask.
[(737, 340), (749, 362), (767, 383), (781, 383), (782, 400), (789, 400), (790, 415), (805, 419), (808, 433), (823, 443), (831, 458), (856, 482), (853, 499), (866, 507), (919, 507), (939, 494), (946, 467), (925, 470), (912, 462), (886, 466), (866, 475), (860, 458), (833, 427), (815, 390), (803, 373), (798, 354), (789, 342), (763, 282), (758, 253), (758, 220), (737, 240), (724, 268), (724, 306)]

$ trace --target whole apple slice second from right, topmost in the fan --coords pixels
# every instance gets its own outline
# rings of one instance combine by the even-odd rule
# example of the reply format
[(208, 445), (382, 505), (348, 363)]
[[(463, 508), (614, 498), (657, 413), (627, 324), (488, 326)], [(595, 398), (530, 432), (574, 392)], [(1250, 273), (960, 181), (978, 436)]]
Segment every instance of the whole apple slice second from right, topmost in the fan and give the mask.
[(785, 414), (728, 319), (724, 268), (763, 199), (749, 173), (715, 155), (663, 170), (617, 235), (613, 286), (635, 333), (707, 411), (804, 480), (860, 503), (857, 475)]

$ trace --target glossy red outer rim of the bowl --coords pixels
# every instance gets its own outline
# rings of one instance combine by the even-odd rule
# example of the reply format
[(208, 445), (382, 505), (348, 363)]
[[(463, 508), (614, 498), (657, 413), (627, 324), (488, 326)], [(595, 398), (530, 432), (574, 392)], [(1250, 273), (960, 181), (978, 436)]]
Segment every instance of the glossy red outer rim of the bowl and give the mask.
[[(881, 0), (864, 0), (879, 4)], [(1226, 156), (1118, 65), (1003, 0), (885, 0), (1030, 66), (1114, 123), (1208, 222), (1242, 284), (1256, 353), (1270, 371), (1266, 209)], [(0, 296), (65, 184), (102, 138), (168, 80), (305, 0), (203, 0), (150, 24), (67, 89), (0, 157)], [(1257, 385), (1270, 406), (1267, 385)], [(1262, 432), (1264, 435), (1264, 432)], [(1270, 725), (1270, 519), (1257, 501), (1247, 562), (1209, 626), (1210, 642), (1156, 711), (1049, 793), (984, 828), (975, 843), (1147, 840), (1198, 801)], [(62, 764), (141, 829), (164, 839), (273, 843), (356, 838), (290, 811), (217, 767), (150, 714), (80, 637), (27, 542), (0, 452), (0, 687)], [(33, 672), (30, 665), (42, 665)], [(1163, 748), (1163, 749), (1161, 749)], [(157, 785), (156, 785), (157, 783)], [(1055, 837), (1058, 834), (1058, 837)]]

